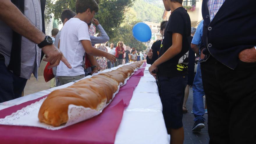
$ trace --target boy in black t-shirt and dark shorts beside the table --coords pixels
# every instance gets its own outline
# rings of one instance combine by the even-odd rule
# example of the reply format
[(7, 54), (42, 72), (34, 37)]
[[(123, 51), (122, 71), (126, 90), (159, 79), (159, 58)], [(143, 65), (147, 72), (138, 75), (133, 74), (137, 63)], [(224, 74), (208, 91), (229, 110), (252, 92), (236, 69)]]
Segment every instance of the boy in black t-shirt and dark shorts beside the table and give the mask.
[[(172, 11), (162, 40), (159, 58), (149, 67), (150, 73), (159, 77), (163, 117), (171, 143), (182, 144), (182, 104), (187, 84), (187, 62), (191, 22), (182, 0), (163, 0), (167, 11)], [(158, 68), (155, 73), (154, 70)]]

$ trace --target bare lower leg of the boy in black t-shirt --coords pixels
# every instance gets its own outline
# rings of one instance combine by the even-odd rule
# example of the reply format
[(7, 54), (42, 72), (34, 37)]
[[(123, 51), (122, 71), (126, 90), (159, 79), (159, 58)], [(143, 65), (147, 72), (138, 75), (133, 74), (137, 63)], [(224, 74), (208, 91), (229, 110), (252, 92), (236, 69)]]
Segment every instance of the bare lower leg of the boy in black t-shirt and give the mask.
[(179, 129), (168, 129), (171, 135), (170, 144), (183, 144), (184, 141), (184, 129), (183, 127)]

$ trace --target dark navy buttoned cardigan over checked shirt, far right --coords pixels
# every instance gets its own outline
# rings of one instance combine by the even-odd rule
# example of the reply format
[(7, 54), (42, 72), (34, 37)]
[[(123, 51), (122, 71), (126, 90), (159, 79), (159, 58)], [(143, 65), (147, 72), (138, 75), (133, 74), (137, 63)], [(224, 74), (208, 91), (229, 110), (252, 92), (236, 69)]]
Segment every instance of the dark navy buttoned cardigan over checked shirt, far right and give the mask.
[(254, 1), (225, 0), (211, 22), (207, 2), (202, 2), (204, 47), (218, 61), (235, 69), (239, 52), (256, 45)]

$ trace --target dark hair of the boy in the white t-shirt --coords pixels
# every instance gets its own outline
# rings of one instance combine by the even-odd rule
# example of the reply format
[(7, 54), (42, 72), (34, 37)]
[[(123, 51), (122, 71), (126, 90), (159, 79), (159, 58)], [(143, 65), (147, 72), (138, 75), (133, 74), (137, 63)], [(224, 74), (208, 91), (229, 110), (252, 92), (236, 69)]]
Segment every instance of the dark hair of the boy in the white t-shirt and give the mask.
[(77, 13), (83, 13), (88, 8), (90, 8), (90, 11), (95, 13), (98, 12), (99, 6), (95, 0), (77, 0), (76, 2), (76, 12)]

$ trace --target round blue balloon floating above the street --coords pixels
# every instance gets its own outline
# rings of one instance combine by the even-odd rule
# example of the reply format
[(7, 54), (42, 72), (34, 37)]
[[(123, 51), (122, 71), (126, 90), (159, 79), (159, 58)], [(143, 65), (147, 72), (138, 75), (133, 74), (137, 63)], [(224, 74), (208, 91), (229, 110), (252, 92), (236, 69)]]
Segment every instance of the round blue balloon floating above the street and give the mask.
[(132, 34), (136, 40), (141, 42), (149, 41), (152, 35), (150, 27), (143, 22), (134, 25)]

